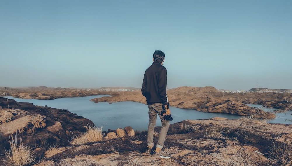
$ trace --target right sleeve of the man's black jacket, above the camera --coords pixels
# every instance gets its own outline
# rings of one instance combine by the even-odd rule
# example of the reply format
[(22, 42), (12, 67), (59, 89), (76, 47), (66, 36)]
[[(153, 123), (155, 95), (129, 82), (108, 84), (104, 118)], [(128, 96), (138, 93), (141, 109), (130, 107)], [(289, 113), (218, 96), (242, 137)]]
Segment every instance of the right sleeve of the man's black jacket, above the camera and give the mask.
[(158, 77), (158, 91), (161, 99), (161, 103), (167, 105), (167, 96), (166, 96), (166, 83), (167, 83), (167, 71), (166, 68), (162, 68), (161, 73)]

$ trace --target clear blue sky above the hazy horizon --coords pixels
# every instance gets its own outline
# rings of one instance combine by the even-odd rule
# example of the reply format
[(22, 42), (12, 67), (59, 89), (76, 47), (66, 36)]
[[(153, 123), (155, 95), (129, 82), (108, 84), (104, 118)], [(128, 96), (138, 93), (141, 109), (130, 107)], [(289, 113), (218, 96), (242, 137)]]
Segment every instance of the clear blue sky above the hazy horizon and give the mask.
[(291, 0), (0, 0), (0, 86), (292, 89)]

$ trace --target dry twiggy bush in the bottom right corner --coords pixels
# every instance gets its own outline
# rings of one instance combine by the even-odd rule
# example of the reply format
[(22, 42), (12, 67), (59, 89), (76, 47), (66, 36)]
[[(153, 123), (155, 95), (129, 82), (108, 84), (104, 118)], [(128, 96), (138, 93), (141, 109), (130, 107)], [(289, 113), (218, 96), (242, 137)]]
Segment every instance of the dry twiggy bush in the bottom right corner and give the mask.
[(273, 164), (287, 166), (292, 165), (292, 144), (278, 142), (269, 146), (268, 158)]

